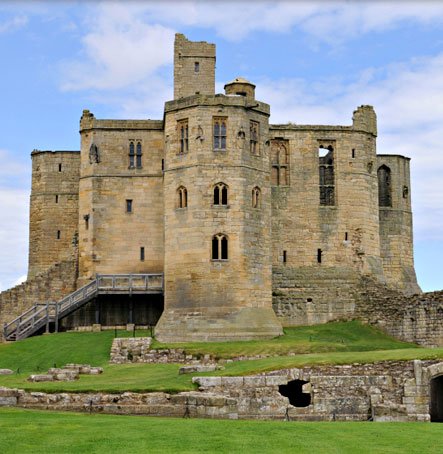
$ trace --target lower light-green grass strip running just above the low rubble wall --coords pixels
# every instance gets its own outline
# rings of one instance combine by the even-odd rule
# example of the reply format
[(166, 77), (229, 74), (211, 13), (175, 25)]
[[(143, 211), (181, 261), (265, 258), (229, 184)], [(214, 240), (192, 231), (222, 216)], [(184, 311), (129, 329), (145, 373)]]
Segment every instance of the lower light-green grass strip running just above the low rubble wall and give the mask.
[[(262, 358), (225, 364), (226, 369), (194, 375), (251, 375), (282, 368), (306, 365), (371, 363), (375, 361), (443, 358), (443, 348), (415, 348), (369, 352), (310, 353), (296, 356)], [(30, 383), (28, 375), (0, 376), (0, 386), (45, 392), (180, 392), (196, 388), (192, 375), (178, 375), (179, 364), (116, 364), (104, 365), (102, 375), (81, 375), (72, 382)]]

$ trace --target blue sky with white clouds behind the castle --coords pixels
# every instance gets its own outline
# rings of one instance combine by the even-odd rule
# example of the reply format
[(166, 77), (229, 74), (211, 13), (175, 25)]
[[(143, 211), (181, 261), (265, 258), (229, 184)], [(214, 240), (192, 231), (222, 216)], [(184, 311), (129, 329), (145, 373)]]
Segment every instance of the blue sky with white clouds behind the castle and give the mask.
[(175, 33), (217, 46), (271, 123), (378, 118), (377, 152), (411, 160), (415, 267), (443, 288), (443, 2), (0, 2), (0, 291), (27, 273), (33, 149), (78, 150), (96, 118), (162, 119)]

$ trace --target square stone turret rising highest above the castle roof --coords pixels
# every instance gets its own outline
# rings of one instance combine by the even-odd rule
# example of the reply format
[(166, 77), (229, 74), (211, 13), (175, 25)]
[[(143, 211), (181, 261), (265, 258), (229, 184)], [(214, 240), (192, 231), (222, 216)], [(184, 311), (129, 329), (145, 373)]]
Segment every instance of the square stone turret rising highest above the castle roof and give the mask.
[(215, 93), (215, 44), (188, 41), (177, 33), (174, 42), (174, 99)]

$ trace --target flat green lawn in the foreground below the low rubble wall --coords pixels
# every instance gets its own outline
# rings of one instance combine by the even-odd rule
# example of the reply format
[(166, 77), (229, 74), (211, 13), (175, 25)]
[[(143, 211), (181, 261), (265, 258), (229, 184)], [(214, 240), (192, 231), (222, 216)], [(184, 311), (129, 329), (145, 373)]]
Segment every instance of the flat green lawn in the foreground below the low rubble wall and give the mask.
[(216, 421), (0, 409), (4, 452), (442, 454), (441, 424)]

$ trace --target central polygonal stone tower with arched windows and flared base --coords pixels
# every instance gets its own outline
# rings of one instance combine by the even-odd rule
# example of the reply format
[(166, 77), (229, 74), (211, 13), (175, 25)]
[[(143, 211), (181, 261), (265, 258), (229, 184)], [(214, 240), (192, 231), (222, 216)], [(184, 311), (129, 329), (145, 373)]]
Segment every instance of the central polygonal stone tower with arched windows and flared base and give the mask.
[[(177, 35), (176, 52), (183, 42)], [(208, 49), (192, 43), (193, 55)], [(188, 71), (175, 67), (176, 99), (165, 105), (165, 311), (156, 337), (272, 338), (282, 328), (271, 295), (269, 106), (214, 95), (211, 69), (211, 80), (191, 77), (184, 88)]]

